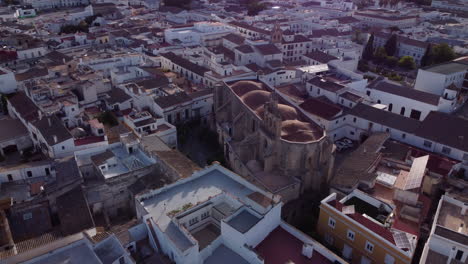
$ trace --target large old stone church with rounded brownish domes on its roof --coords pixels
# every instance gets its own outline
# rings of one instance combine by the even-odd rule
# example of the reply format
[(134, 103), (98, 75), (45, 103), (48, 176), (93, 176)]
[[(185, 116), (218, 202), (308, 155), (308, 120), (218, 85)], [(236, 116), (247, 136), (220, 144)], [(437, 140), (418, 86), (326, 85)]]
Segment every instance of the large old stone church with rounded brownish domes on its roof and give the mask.
[(328, 181), (334, 148), (325, 131), (301, 109), (258, 81), (215, 88), (219, 141), (231, 168), (283, 202)]

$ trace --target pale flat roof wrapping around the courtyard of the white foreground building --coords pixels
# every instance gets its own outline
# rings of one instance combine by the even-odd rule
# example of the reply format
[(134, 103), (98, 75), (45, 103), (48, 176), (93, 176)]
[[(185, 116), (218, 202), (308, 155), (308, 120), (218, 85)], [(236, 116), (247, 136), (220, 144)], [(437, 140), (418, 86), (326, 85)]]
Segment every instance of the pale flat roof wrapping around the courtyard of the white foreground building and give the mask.
[[(175, 221), (172, 221), (174, 211), (180, 211), (187, 204), (197, 206), (225, 194), (240, 203), (250, 205), (259, 213), (268, 212), (273, 204), (265, 206), (260, 204), (260, 201), (255, 201), (256, 198), (249, 198), (253, 197), (251, 195), (254, 193), (271, 199), (274, 204), (279, 202), (279, 197), (273, 197), (272, 194), (262, 191), (242, 177), (215, 164), (172, 185), (137, 196), (137, 200), (158, 228), (183, 252), (193, 246), (195, 241)], [(237, 222), (242, 226), (245, 221), (241, 221), (243, 220), (241, 216), (237, 218), (239, 220)]]

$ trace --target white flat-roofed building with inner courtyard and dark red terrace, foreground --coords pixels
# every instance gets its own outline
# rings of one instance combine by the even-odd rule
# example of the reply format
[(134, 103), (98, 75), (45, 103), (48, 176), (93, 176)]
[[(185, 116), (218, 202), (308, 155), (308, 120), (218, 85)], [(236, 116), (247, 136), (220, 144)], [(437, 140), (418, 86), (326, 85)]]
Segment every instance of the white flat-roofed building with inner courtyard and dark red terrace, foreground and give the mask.
[(219, 164), (136, 196), (151, 246), (179, 264), (345, 263), (283, 222), (281, 207)]

